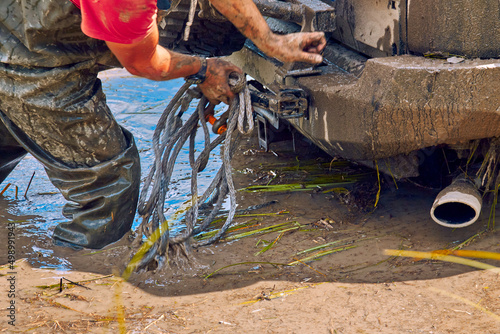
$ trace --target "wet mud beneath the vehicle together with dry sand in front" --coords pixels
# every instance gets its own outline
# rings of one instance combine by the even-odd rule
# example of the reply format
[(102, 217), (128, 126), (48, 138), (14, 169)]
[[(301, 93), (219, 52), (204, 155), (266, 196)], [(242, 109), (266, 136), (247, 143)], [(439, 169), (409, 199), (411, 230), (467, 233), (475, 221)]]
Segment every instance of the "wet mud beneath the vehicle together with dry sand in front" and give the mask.
[[(290, 142), (272, 145), (272, 152), (262, 152), (255, 138), (242, 142), (234, 166), (240, 187), (310, 177), (315, 170), (305, 166), (311, 161), (323, 166), (317, 167), (323, 174), (369, 173), (343, 164), (325, 169), (331, 159), (310, 147), (296, 154)], [(282, 166), (296, 170), (291, 176)], [(189, 263), (137, 273), (128, 282), (118, 277), (130, 258), (128, 237), (102, 252), (73, 251), (52, 246), (48, 238), (24, 237), (23, 226), (16, 227), (15, 268), (8, 266), (7, 246), (0, 254), (0, 264), (7, 264), (0, 269), (0, 331), (500, 333), (498, 274), (384, 255), (384, 249), (432, 251), (458, 245), (498, 251), (498, 231), (483, 232), (487, 214), (471, 227), (446, 229), (428, 216), (436, 190), (409, 183), (395, 189), (389, 182), (373, 209), (376, 180), (375, 174), (368, 175), (346, 187), (348, 193), (241, 192), (241, 207), (277, 203), (260, 209), (262, 216), (240, 217), (237, 223), (253, 221), (253, 228), (262, 228), (288, 222), (300, 228), (193, 249)], [(19, 217), (3, 212), (1, 218), (0, 244), (7, 245), (8, 222)], [(273, 241), (274, 247), (257, 254)], [(334, 241), (343, 246), (316, 261), (299, 253)], [(37, 268), (36, 255), (28, 252), (32, 246), (51, 247), (52, 256), (74, 270)], [(12, 289), (15, 296), (9, 296)], [(15, 326), (9, 324), (11, 302)]]

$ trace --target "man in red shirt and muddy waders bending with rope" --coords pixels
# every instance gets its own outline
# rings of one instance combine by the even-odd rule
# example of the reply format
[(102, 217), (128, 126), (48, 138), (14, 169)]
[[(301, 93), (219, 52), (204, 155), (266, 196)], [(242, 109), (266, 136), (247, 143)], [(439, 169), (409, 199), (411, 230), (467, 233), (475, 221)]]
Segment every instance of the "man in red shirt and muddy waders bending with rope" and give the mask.
[[(56, 243), (102, 248), (130, 230), (140, 180), (134, 139), (116, 123), (97, 79), (109, 50), (144, 78), (202, 80), (215, 103), (234, 97), (228, 75), (241, 70), (158, 45), (156, 0), (71, 1), (2, 4), (0, 182), (31, 153), (70, 201)], [(321, 62), (322, 33), (275, 35), (251, 0), (211, 3), (267, 55)]]

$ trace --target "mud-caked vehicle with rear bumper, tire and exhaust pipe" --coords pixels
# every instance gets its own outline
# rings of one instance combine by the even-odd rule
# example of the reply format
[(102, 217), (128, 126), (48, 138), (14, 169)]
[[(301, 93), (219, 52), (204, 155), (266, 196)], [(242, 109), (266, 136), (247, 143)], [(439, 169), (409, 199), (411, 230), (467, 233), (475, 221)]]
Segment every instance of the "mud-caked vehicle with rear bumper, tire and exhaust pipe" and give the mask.
[(331, 156), (443, 189), (431, 209), (437, 223), (477, 220), (483, 195), (496, 197), (500, 180), (497, 0), (254, 2), (277, 33), (324, 31), (324, 62), (266, 57), (205, 0), (187, 41), (190, 1), (165, 2), (163, 44), (232, 54), (254, 79), (264, 148), (291, 126)]

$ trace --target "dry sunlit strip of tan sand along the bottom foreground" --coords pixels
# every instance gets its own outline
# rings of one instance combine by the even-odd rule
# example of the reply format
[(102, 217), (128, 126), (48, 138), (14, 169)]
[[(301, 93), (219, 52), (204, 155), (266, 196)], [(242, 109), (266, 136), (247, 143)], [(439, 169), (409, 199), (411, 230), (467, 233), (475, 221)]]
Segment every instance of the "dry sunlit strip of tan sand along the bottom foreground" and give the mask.
[[(260, 281), (156, 296), (116, 278), (16, 268), (16, 330), (32, 333), (498, 333), (498, 275), (391, 283)], [(40, 289), (64, 276), (83, 286)], [(201, 282), (200, 282), (201, 283)], [(57, 284), (56, 284), (57, 285)], [(2, 280), (2, 290), (5, 290)], [(125, 315), (122, 324), (115, 321)], [(5, 312), (3, 312), (5, 313)], [(5, 315), (2, 316), (5, 319)], [(2, 319), (2, 321), (5, 320)], [(12, 327), (2, 326), (7, 332)]]

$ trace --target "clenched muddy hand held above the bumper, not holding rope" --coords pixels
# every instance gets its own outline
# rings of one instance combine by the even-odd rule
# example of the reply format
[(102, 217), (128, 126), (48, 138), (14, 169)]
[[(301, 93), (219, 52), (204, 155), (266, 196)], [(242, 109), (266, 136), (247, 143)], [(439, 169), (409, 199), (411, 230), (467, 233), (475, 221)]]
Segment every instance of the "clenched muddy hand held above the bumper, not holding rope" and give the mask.
[(272, 34), (268, 41), (260, 44), (259, 48), (266, 55), (283, 62), (302, 61), (319, 64), (323, 61), (320, 53), (326, 46), (326, 39), (323, 32)]

